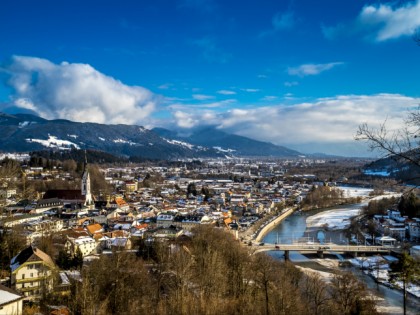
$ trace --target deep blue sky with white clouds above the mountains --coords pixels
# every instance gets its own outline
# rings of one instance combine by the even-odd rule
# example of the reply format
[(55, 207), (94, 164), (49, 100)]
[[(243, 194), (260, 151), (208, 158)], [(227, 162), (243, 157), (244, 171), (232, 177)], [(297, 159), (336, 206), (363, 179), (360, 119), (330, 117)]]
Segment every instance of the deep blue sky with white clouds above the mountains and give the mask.
[(419, 0), (5, 0), (0, 110), (367, 155), (360, 123), (420, 104), (419, 27)]

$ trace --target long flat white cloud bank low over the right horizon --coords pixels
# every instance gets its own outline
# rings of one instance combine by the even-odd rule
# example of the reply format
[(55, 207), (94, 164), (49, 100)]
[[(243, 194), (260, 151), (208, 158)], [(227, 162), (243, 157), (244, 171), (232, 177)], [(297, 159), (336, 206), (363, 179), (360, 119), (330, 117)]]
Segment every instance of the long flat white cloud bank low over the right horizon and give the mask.
[(407, 109), (416, 108), (419, 102), (420, 98), (398, 94), (344, 95), (296, 105), (278, 104), (224, 112), (208, 109), (187, 113), (180, 110), (174, 116), (177, 125), (184, 128), (215, 125), (262, 141), (345, 155), (350, 151), (340, 150), (354, 146), (360, 124), (366, 122), (377, 127), (386, 120), (391, 130), (397, 129), (402, 126)]

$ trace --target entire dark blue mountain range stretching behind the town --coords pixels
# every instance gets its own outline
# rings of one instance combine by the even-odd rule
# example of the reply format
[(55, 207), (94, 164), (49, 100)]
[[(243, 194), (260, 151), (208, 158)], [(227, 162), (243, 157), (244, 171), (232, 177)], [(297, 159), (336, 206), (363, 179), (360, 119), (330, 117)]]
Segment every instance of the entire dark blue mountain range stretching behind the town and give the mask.
[(180, 137), (171, 130), (137, 125), (47, 120), (31, 114), (0, 113), (0, 151), (93, 149), (119, 156), (184, 159), (302, 154), (272, 143), (228, 134), (213, 127)]

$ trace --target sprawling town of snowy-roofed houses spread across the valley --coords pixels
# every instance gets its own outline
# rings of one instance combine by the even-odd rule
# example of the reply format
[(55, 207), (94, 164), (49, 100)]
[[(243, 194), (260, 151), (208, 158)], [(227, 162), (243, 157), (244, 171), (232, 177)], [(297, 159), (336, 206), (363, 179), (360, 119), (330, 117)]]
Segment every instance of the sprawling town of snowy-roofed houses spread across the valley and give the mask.
[[(185, 242), (199, 227), (223, 230), (247, 250), (262, 248), (264, 231), (285, 211), (361, 202), (337, 193), (336, 186), (366, 187), (363, 163), (241, 158), (112, 166), (89, 163), (86, 152), (78, 163), (5, 157), (0, 291), (9, 292), (10, 305), (2, 307), (20, 314), (23, 305), (36, 306), (47, 294), (70, 296), (82, 268), (102, 256), (127, 253), (148, 261), (156, 254), (152, 244), (183, 244), (189, 252)], [(372, 193), (383, 191), (386, 180), (378, 182), (379, 188), (369, 186)], [(360, 216), (345, 243), (411, 243), (418, 259), (420, 219), (393, 206)], [(60, 309), (67, 307), (51, 314), (64, 314)]]

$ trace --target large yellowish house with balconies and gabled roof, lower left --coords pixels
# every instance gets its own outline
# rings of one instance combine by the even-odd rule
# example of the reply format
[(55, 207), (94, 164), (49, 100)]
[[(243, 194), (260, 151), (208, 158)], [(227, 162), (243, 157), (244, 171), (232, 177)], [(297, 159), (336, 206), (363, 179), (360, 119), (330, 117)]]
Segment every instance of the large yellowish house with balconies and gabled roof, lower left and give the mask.
[(53, 288), (56, 265), (49, 255), (29, 246), (10, 262), (11, 286), (27, 298), (40, 296), (43, 290)]

